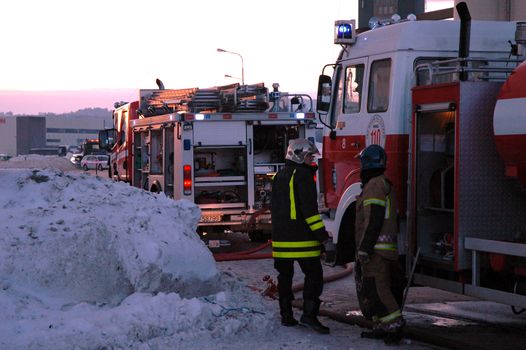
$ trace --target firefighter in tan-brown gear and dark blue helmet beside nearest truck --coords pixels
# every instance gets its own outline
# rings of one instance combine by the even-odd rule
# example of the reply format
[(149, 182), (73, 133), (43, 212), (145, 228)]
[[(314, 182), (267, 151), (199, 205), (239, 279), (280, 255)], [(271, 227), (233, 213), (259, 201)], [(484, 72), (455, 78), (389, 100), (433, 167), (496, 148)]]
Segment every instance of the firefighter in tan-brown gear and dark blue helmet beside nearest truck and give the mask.
[(397, 343), (405, 324), (401, 313), (405, 277), (398, 262), (396, 195), (384, 175), (384, 149), (370, 145), (359, 157), (362, 193), (356, 199), (356, 289), (362, 313), (373, 321), (373, 331), (362, 336)]

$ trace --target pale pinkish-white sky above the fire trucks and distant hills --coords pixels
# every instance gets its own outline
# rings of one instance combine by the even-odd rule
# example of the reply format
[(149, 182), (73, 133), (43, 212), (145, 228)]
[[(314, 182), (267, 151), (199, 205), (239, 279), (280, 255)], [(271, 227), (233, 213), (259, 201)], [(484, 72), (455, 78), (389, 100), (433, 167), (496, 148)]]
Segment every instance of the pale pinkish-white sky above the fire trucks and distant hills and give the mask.
[(357, 19), (358, 0), (26, 0), (0, 13), (0, 112), (38, 114), (112, 109), (156, 78), (173, 89), (240, 82), (242, 63), (247, 84), (313, 94), (341, 49), (334, 21)]

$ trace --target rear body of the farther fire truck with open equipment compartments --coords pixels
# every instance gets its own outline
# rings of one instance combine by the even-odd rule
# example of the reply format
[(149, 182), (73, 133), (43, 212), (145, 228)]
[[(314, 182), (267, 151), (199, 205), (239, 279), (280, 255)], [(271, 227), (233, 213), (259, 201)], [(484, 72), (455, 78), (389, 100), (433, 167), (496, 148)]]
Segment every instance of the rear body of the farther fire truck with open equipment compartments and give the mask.
[[(132, 126), (134, 164), (142, 164), (132, 184), (195, 202), (199, 226), (226, 229), (243, 229), (251, 218), (256, 225), (256, 216), (270, 228), (270, 180), (284, 165), (288, 140), (315, 142), (316, 130), (314, 113), (289, 112), (168, 114)], [(186, 189), (185, 169), (191, 174)]]

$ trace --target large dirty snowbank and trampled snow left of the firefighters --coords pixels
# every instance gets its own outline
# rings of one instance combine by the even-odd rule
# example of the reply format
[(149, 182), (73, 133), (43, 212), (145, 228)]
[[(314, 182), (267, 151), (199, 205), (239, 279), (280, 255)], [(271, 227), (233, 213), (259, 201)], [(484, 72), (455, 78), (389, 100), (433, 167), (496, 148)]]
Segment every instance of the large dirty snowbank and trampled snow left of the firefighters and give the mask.
[(193, 203), (18, 158), (0, 162), (0, 349), (387, 348), (282, 327), (243, 264), (218, 269)]

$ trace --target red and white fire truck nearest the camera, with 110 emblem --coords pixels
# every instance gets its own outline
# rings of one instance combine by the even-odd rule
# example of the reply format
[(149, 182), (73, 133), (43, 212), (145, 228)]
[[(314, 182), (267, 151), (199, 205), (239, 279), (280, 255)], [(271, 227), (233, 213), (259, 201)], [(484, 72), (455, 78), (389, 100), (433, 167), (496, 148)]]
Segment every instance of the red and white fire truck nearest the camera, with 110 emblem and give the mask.
[(336, 22), (318, 86), (325, 224), (354, 240), (356, 155), (380, 144), (415, 282), (526, 308), (526, 23), (460, 18)]

